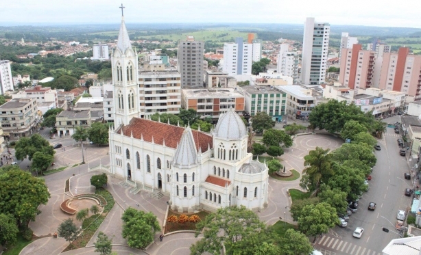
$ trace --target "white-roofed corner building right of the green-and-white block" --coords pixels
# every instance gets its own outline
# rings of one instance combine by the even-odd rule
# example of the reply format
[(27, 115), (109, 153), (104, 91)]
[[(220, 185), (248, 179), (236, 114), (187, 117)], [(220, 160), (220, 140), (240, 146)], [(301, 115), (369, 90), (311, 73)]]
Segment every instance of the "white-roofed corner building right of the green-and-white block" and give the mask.
[(311, 89), (300, 85), (283, 85), (276, 88), (287, 94), (285, 114), (300, 120), (308, 118), (316, 104), (315, 98), (311, 96)]

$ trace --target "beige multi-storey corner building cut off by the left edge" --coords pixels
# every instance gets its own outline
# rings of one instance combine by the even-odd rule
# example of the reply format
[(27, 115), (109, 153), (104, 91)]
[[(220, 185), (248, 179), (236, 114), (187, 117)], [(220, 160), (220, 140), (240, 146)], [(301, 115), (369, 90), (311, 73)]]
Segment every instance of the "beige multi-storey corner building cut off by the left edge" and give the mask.
[(19, 139), (32, 135), (39, 122), (35, 98), (13, 98), (0, 105), (3, 135)]

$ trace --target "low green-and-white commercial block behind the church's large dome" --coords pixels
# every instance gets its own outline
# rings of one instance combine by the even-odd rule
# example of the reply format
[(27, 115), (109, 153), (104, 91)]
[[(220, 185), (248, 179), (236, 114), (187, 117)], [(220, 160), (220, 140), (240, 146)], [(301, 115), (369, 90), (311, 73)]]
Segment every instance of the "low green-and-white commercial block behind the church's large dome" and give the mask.
[(282, 120), (285, 116), (285, 104), (287, 94), (280, 92), (271, 86), (242, 86), (238, 87), (239, 92), (244, 95), (245, 112), (250, 117), (257, 113), (265, 112), (272, 116), (275, 121)]

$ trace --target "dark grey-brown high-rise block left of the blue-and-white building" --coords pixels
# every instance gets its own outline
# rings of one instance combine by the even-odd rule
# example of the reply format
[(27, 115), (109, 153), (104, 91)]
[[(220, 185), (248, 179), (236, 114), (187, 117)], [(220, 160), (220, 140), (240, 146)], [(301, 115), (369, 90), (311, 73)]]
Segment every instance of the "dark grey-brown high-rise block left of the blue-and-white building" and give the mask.
[(203, 88), (204, 42), (193, 36), (178, 43), (177, 70), (181, 75), (181, 88)]

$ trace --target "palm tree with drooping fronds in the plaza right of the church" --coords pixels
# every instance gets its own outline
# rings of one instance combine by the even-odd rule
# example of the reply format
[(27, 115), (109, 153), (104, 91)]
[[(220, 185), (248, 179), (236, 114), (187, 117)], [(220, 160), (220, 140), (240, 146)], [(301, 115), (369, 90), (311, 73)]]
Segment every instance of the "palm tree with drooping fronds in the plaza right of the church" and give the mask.
[(310, 150), (309, 155), (304, 156), (304, 166), (306, 168), (302, 172), (309, 177), (317, 195), (322, 178), (333, 174), (329, 149), (316, 147), (315, 150)]

